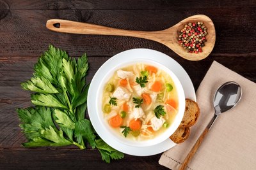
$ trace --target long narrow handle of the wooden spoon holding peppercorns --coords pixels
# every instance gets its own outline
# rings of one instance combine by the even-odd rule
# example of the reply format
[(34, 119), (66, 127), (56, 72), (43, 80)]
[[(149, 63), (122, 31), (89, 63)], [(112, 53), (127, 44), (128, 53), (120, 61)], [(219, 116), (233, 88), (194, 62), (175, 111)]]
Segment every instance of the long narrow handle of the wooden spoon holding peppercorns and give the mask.
[[(51, 19), (46, 22), (47, 29), (56, 32), (66, 32), (72, 34), (97, 34), (111, 36), (133, 36), (138, 38), (148, 38), (152, 33), (148, 31), (129, 31), (123, 29), (115, 29), (95, 24), (87, 24), (82, 22), (74, 22), (70, 20)], [(153, 39), (154, 40), (154, 39)]]

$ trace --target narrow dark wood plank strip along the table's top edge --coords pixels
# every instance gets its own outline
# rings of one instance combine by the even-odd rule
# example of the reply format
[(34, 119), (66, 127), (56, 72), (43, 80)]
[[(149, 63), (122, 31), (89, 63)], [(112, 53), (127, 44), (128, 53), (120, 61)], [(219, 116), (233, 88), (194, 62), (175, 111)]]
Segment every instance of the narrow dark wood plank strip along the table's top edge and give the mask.
[(118, 0), (76, 0), (76, 1), (52, 1), (52, 0), (2, 0), (10, 5), (12, 10), (134, 10), (134, 9), (179, 9), (191, 6), (196, 8), (234, 8), (250, 6), (255, 7), (256, 1), (198, 1), (198, 0), (181, 0), (181, 1), (166, 1), (166, 0), (141, 0), (141, 1), (118, 1)]

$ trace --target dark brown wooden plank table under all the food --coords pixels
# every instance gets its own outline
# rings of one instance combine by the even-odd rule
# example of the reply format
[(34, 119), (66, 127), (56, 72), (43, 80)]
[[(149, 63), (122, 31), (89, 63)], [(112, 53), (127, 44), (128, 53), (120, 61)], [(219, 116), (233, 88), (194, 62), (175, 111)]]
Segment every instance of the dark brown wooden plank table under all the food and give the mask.
[[(169, 48), (147, 39), (123, 36), (63, 34), (45, 28), (51, 18), (106, 25), (120, 29), (158, 31), (196, 14), (209, 16), (216, 27), (211, 55), (200, 61), (182, 59)], [(256, 82), (256, 1), (0, 0), (0, 169), (166, 169), (161, 154), (125, 155), (106, 164), (97, 150), (22, 148), (15, 108), (31, 106), (29, 92), (20, 88), (28, 80), (38, 56), (51, 43), (72, 56), (86, 52), (88, 81), (116, 53), (131, 48), (151, 48), (170, 55), (186, 69), (195, 90), (216, 60)], [(216, 73), (218, 74), (218, 73)], [(221, 74), (221, 73), (219, 73)]]

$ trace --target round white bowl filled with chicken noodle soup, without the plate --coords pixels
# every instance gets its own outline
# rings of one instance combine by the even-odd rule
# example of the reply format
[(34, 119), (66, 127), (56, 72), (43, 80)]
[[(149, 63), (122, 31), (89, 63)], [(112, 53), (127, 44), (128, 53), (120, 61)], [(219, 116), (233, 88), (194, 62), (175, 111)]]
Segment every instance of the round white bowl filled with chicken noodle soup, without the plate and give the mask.
[(134, 60), (111, 68), (96, 95), (102, 129), (125, 145), (161, 143), (179, 127), (184, 114), (179, 79), (152, 60)]

